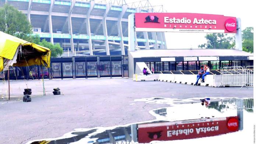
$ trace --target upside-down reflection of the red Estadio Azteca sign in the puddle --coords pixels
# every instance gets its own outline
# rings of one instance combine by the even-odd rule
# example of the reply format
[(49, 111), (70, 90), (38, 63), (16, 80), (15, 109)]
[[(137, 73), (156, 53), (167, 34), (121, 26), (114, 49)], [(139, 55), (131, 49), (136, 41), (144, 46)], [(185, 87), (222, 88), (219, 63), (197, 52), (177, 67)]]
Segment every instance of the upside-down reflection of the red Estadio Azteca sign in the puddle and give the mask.
[(138, 142), (195, 139), (236, 131), (238, 131), (237, 116), (139, 124)]

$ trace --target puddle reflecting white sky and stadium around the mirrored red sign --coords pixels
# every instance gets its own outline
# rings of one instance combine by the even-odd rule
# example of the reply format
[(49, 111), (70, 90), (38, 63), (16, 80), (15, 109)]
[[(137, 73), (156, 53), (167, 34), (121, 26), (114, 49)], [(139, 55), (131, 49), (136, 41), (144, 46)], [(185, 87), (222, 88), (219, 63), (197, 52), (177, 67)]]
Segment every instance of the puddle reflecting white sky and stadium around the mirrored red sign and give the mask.
[[(211, 98), (214, 99), (214, 98)], [(244, 111), (244, 129), (238, 133), (239, 135), (244, 135), (248, 137), (246, 132), (248, 132), (248, 126), (252, 127), (252, 116), (253, 113), (253, 98), (249, 99), (222, 99), (221, 101), (212, 101), (211, 105), (208, 107), (202, 106), (198, 103), (194, 103), (194, 100), (191, 99), (184, 100), (185, 102), (190, 102), (186, 104), (174, 104), (175, 99), (168, 98), (147, 98), (139, 99), (135, 101), (144, 101), (146, 103), (168, 103), (171, 107), (164, 107), (160, 109), (155, 109), (149, 111), (150, 114), (156, 117), (156, 120), (140, 122), (137, 124), (146, 124), (146, 123), (156, 123), (156, 122), (167, 122), (167, 121), (180, 121), (180, 120), (191, 120), (198, 118), (218, 118), (218, 117), (230, 117), (237, 115), (237, 110)], [(198, 99), (199, 100), (199, 99)], [(183, 101), (183, 102), (184, 102)], [(248, 116), (249, 115), (249, 116)], [(131, 124), (123, 126), (113, 126), (113, 127), (100, 127), (86, 130), (76, 130), (65, 134), (65, 137), (55, 138), (55, 139), (43, 139), (36, 141), (29, 141), (28, 144), (103, 144), (103, 143), (122, 143), (129, 144), (132, 141), (131, 138)], [(234, 134), (224, 134), (225, 138), (228, 136), (233, 136)], [(214, 136), (216, 137), (216, 136)], [(217, 136), (220, 137), (220, 136)], [(223, 137), (223, 136), (222, 136)], [(200, 138), (206, 139), (206, 138)], [(214, 141), (214, 138), (207, 138)], [(234, 139), (234, 137), (233, 137)], [(176, 143), (181, 143), (181, 141), (187, 140), (176, 140)], [(134, 143), (134, 142), (132, 142)], [(170, 141), (153, 141), (153, 143), (170, 143)], [(175, 143), (172, 141), (171, 143)], [(182, 142), (183, 143), (183, 142)], [(196, 141), (195, 141), (196, 143)], [(207, 142), (208, 143), (208, 142)]]

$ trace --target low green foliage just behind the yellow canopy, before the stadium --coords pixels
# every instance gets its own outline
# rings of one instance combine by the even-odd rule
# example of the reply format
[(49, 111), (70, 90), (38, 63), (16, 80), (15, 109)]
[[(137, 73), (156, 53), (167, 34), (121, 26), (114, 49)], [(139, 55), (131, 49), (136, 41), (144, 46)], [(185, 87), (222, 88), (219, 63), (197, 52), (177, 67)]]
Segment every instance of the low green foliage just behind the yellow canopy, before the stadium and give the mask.
[(58, 43), (53, 45), (51, 42), (47, 42), (45, 39), (40, 41), (39, 35), (32, 35), (31, 38), (33, 43), (49, 48), (51, 50), (51, 57), (57, 57), (63, 53), (63, 48), (61, 48), (60, 44)]

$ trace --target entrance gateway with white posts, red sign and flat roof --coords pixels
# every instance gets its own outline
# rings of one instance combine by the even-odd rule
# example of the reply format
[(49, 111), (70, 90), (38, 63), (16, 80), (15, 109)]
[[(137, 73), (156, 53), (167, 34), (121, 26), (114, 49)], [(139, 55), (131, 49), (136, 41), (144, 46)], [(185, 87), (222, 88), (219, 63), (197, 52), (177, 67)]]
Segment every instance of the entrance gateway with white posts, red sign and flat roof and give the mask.
[[(136, 62), (218, 61), (221, 64), (221, 61), (250, 62), (250, 60), (252, 59), (252, 54), (242, 52), (241, 19), (232, 17), (232, 16), (213, 15), (213, 14), (193, 14), (193, 13), (135, 13), (135, 14), (129, 15), (128, 17), (128, 31), (129, 31), (128, 33), (128, 55), (129, 56), (128, 57), (129, 57), (129, 76), (130, 77), (135, 73)], [(135, 31), (156, 32), (156, 33), (158, 32), (160, 33), (164, 33), (164, 32), (234, 33), (235, 49), (237, 50), (230, 50), (229, 52), (226, 52), (225, 50), (223, 50), (225, 51), (223, 52), (217, 49), (216, 50), (193, 49), (191, 51), (184, 50), (184, 49), (179, 49), (179, 50), (168, 49), (168, 50), (153, 50), (154, 52), (152, 53), (149, 52), (152, 50), (147, 50), (147, 52), (145, 52), (143, 50), (136, 50), (137, 45), (135, 44), (135, 41), (136, 41)], [(161, 34), (154, 35), (156, 33), (152, 33), (152, 37), (156, 37), (156, 36), (161, 37)], [(166, 40), (164, 41), (166, 42)], [(163, 48), (163, 46), (160, 45), (159, 49), (167, 49), (167, 48)], [(143, 53), (143, 52), (144, 52), (143, 56), (142, 55), (139, 56), (139, 53)], [(177, 54), (175, 54), (174, 52), (176, 52)], [(181, 53), (183, 53), (183, 55)], [(195, 55), (196, 53), (197, 55)], [(136, 58), (136, 60), (134, 58)], [(191, 58), (193, 58), (193, 60)], [(248, 64), (245, 64), (245, 65), (248, 65)], [(217, 68), (217, 69), (220, 69), (220, 68)], [(183, 70), (186, 70), (186, 69), (183, 69)]]

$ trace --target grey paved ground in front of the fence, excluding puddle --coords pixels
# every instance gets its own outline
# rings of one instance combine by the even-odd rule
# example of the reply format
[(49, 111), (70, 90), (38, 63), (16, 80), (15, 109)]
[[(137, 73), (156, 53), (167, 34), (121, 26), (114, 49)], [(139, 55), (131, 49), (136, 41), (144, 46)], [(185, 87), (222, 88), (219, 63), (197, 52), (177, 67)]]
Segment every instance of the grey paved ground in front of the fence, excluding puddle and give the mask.
[[(253, 97), (253, 88), (213, 88), (168, 82), (132, 82), (131, 79), (65, 79), (11, 81), (11, 101), (0, 100), (0, 144), (19, 144), (29, 140), (58, 137), (75, 128), (114, 126), (153, 120), (149, 110), (163, 104), (134, 102), (149, 97), (203, 98)], [(32, 102), (22, 102), (23, 89), (32, 88)], [(8, 83), (0, 83), (6, 97)], [(59, 87), (62, 95), (54, 96)], [(19, 100), (21, 99), (21, 100)], [(135, 105), (130, 105), (136, 103)]]

